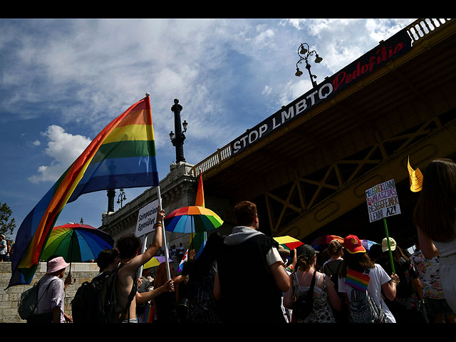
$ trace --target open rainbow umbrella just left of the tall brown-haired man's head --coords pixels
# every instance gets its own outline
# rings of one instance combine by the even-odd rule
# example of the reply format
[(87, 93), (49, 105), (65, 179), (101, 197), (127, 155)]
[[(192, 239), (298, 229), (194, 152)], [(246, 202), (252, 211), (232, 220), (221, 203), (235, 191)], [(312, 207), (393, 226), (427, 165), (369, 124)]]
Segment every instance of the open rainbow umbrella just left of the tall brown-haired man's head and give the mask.
[(165, 230), (175, 233), (207, 232), (222, 224), (212, 210), (197, 205), (176, 209), (165, 217)]

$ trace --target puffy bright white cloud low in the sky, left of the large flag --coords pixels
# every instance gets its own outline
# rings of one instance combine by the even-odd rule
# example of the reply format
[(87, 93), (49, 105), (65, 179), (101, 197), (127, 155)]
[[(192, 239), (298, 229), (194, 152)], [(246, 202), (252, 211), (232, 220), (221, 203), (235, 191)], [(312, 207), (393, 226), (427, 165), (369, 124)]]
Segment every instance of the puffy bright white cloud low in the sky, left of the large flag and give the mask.
[(51, 157), (50, 165), (41, 165), (36, 174), (29, 177), (33, 183), (58, 180), (63, 172), (78, 158), (90, 144), (90, 139), (82, 135), (66, 133), (58, 125), (51, 125), (46, 132), (41, 133), (48, 140), (44, 154)]

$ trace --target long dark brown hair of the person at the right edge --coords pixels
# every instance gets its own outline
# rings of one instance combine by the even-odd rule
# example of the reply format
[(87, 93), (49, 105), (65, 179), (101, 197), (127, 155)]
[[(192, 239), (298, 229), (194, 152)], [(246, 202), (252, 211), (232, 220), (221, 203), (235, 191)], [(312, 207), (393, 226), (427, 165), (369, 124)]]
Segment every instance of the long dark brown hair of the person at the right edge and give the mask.
[(423, 172), (423, 189), (413, 212), (416, 226), (437, 242), (456, 237), (456, 164), (437, 159)]

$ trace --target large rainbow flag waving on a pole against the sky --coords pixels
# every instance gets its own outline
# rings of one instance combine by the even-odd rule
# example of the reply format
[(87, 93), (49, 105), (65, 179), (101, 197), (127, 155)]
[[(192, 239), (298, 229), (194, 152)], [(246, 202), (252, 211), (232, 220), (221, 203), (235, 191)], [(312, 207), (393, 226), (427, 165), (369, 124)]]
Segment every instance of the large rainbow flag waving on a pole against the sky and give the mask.
[(16, 237), (9, 286), (31, 283), (41, 250), (66, 203), (88, 192), (159, 184), (147, 95), (90, 142), (24, 219)]

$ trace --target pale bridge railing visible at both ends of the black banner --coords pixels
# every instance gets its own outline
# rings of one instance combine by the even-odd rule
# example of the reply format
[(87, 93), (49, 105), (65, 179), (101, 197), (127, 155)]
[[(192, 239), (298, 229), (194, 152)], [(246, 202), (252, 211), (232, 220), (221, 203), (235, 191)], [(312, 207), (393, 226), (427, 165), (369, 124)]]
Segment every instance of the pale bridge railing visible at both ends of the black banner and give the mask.
[[(432, 31), (435, 31), (437, 28), (446, 24), (450, 20), (454, 19), (417, 19), (404, 29), (407, 30), (410, 38), (412, 39), (413, 46), (413, 43), (419, 41), (427, 34), (432, 33)], [(214, 152), (202, 162), (199, 162), (197, 165), (192, 167), (192, 175), (197, 177), (200, 173), (206, 172), (207, 170), (220, 165), (224, 160), (229, 159), (229, 157), (231, 157), (230, 144), (219, 148), (217, 152)]]

